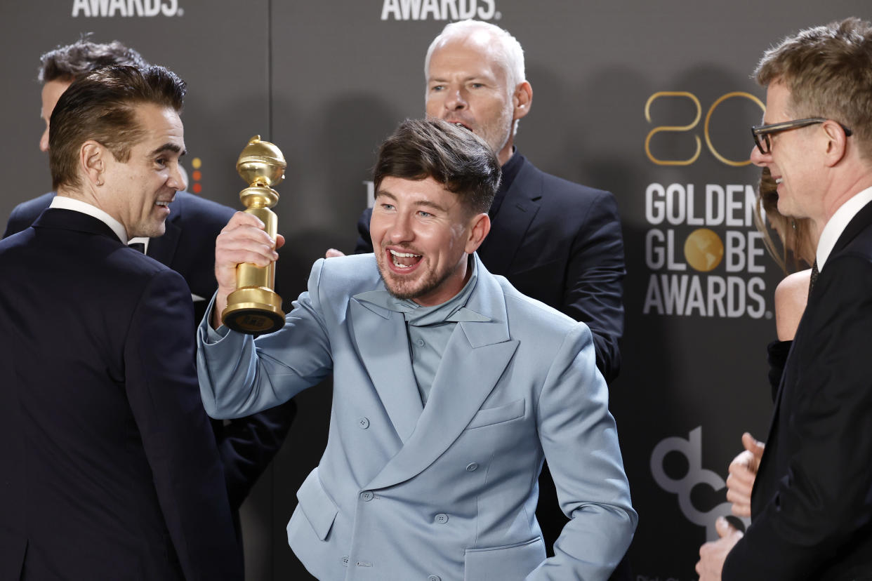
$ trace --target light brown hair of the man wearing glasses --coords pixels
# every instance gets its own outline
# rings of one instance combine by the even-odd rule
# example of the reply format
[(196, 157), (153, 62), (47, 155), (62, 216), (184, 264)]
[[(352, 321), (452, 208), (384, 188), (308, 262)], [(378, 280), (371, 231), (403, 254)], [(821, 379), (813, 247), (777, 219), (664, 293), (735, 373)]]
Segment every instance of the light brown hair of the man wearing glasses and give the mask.
[(801, 30), (766, 51), (754, 77), (763, 86), (784, 83), (797, 118), (848, 127), (872, 160), (872, 24), (851, 17)]

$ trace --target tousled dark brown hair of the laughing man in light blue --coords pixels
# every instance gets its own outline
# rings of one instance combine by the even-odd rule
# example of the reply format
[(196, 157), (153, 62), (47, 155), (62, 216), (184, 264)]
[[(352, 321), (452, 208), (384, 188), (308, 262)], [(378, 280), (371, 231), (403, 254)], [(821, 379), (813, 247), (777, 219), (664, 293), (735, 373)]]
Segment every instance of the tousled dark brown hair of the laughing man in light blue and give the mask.
[(490, 147), (462, 127), (441, 119), (406, 119), (378, 149), (372, 181), (386, 177), (433, 178), (473, 213), (490, 209), (500, 186), (500, 161)]

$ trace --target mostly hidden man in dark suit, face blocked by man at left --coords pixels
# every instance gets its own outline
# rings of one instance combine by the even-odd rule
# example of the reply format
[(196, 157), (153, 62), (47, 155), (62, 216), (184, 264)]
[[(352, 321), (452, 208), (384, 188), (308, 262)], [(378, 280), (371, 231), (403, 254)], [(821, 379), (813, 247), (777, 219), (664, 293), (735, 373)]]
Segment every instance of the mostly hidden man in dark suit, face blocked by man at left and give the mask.
[[(146, 66), (139, 52), (117, 40), (105, 44), (79, 40), (46, 52), (40, 60), (45, 131), (39, 140), (39, 148), (44, 152), (49, 151), (51, 111), (74, 80), (110, 64)], [(54, 196), (54, 192), (45, 193), (16, 206), (3, 238), (31, 226), (49, 207)], [(199, 321), (208, 298), (218, 287), (215, 281), (215, 237), (221, 233), (234, 210), (187, 192), (177, 192), (168, 207), (170, 213), (165, 221), (165, 232), (135, 241), (140, 243), (140, 250), (147, 256), (184, 277), (194, 299), (194, 321)], [(238, 518), (235, 511), (242, 506), (257, 478), (281, 448), (295, 414), (295, 403), (288, 402), (262, 414), (226, 422), (227, 425), (212, 422), (235, 519)]]

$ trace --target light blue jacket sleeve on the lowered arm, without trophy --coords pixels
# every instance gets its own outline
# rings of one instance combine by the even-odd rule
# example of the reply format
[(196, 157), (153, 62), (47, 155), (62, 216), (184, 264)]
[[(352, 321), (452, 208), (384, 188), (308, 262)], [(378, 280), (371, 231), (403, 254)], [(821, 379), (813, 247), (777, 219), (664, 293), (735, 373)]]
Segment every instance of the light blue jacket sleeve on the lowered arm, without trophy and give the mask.
[(555, 556), (528, 581), (605, 581), (630, 546), (637, 514), (608, 404), (589, 330), (577, 325), (555, 355), (536, 407), (542, 450), (570, 520)]

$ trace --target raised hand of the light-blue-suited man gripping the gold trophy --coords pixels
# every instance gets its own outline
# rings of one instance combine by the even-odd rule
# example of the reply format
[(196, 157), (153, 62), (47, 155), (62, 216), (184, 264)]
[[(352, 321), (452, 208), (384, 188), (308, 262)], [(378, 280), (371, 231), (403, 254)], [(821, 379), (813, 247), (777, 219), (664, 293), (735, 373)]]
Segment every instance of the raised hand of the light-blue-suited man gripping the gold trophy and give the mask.
[(248, 213), (237, 212), (215, 239), (215, 279), (218, 295), (212, 312), (212, 328), (221, 327), (221, 313), (227, 307), (228, 294), (236, 290), (236, 266), (249, 262), (269, 266), (278, 259), (276, 249), (284, 244), (282, 234), (276, 240), (263, 230), (263, 222)]

